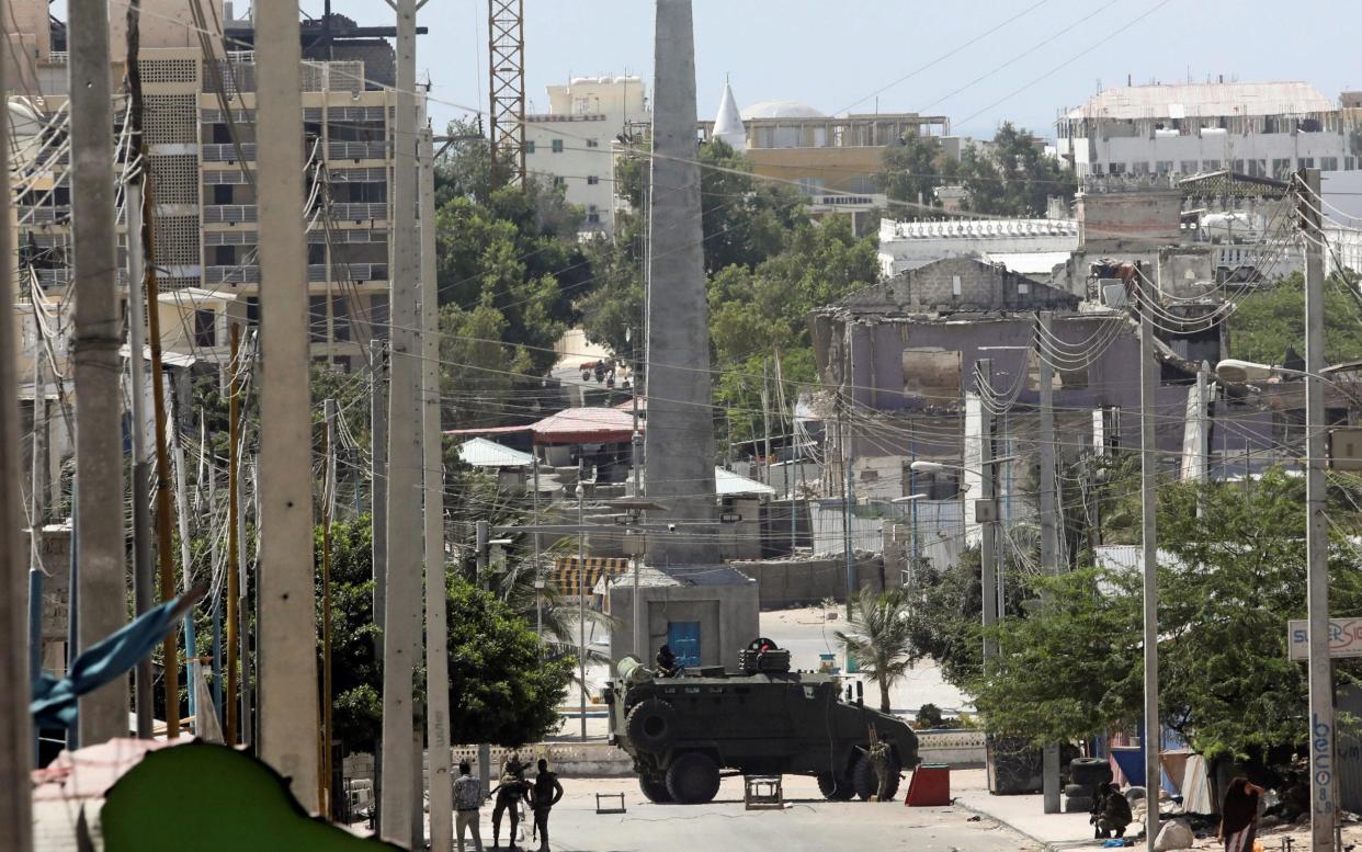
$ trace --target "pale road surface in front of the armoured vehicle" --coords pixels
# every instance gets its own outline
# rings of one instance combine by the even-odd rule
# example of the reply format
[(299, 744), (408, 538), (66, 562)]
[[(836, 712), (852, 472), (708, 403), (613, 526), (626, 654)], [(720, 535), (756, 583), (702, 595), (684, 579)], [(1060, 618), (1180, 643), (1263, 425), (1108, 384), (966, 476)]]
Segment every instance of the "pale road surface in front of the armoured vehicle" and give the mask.
[[(785, 779), (787, 807), (748, 811), (742, 780), (726, 779), (710, 804), (654, 804), (632, 779), (564, 779), (549, 823), (550, 849), (573, 852), (825, 852), (872, 848), (994, 852), (1036, 847), (953, 807), (824, 802), (813, 779)], [(595, 793), (624, 793), (624, 814), (597, 814)], [(617, 799), (616, 799), (617, 802)], [(489, 833), (484, 837), (490, 838)], [(530, 847), (535, 848), (535, 847)]]

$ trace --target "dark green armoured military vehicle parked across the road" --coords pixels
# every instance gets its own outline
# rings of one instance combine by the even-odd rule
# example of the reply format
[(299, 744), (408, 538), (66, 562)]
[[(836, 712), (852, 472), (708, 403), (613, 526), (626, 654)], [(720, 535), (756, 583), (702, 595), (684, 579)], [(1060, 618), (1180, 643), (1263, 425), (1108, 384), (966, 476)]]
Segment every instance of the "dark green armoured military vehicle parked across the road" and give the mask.
[(805, 774), (824, 798), (869, 799), (878, 781), (868, 757), (872, 730), (889, 746), (888, 796), (918, 764), (918, 738), (902, 720), (843, 694), (838, 678), (790, 671), (790, 652), (742, 651), (722, 666), (662, 676), (628, 656), (605, 689), (610, 742), (633, 758), (652, 802), (701, 804), (725, 774)]

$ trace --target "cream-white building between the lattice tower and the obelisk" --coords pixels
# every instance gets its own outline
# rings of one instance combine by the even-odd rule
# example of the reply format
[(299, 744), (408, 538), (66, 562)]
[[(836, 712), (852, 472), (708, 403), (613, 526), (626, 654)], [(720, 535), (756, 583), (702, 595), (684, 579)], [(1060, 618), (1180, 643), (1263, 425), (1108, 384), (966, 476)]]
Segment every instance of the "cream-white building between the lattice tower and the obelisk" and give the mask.
[(572, 78), (549, 86), (549, 112), (527, 114), (526, 170), (556, 186), (586, 212), (584, 233), (614, 233), (612, 144), (631, 125), (651, 124), (643, 79)]

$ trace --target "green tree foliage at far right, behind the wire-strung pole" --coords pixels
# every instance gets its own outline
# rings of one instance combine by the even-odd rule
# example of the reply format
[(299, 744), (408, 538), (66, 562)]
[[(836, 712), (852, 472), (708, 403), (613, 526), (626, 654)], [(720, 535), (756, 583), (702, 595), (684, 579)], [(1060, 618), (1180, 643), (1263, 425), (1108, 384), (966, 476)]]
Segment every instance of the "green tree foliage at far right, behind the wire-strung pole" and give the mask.
[[(1279, 365), (1287, 350), (1303, 354), (1305, 276), (1294, 272), (1275, 286), (1244, 297), (1230, 314), (1229, 325), (1233, 358)], [(1324, 290), (1324, 347), (1329, 363), (1362, 358), (1355, 284), (1350, 286), (1337, 275), (1329, 278)]]

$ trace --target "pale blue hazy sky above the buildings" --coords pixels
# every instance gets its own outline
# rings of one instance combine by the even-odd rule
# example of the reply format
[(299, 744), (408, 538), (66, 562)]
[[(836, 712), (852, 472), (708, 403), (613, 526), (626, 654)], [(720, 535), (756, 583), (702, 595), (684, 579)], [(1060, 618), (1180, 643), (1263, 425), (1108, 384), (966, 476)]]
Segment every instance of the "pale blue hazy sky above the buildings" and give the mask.
[[(652, 5), (524, 0), (531, 109), (546, 110), (543, 87), (571, 75), (637, 73), (651, 90)], [(302, 7), (316, 14), (321, 0)], [(383, 0), (334, 8), (366, 24), (392, 18)], [(418, 76), (434, 83), (437, 122), (486, 109), (486, 0), (430, 0), (421, 12), (430, 34), (418, 39)], [(695, 0), (695, 19), (703, 117), (725, 75), (741, 106), (873, 112), (878, 93), (881, 112), (947, 114), (970, 135), (1004, 120), (1053, 135), (1058, 108), (1126, 75), (1306, 80), (1329, 98), (1362, 88), (1355, 0)]]

